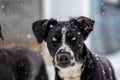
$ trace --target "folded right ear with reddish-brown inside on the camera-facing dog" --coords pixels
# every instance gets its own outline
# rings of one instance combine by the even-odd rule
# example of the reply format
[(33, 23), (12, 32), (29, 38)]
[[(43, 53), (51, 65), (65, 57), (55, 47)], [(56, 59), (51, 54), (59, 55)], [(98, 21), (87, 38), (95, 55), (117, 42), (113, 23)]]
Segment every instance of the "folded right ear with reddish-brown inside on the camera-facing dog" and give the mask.
[(77, 22), (80, 23), (80, 31), (84, 36), (84, 40), (86, 40), (90, 32), (93, 30), (95, 21), (90, 18), (81, 16), (77, 18)]

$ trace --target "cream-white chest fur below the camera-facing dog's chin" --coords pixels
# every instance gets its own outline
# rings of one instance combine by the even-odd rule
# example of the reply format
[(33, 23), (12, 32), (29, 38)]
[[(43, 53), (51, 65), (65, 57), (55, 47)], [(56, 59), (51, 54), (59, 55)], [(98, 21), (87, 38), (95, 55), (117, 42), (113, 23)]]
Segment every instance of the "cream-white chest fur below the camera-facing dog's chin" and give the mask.
[(58, 75), (63, 80), (80, 80), (82, 74), (81, 70), (82, 64), (76, 64), (68, 68), (62, 68), (59, 70)]

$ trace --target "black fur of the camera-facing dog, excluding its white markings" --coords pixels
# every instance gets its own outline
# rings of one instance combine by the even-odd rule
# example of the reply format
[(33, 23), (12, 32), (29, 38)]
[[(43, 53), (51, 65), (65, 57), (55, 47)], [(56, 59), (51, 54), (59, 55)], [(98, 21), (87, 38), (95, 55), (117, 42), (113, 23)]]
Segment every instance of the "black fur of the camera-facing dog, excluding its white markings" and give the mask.
[[(50, 28), (50, 25), (52, 25), (52, 28)], [(41, 43), (43, 40), (47, 42), (48, 50), (54, 59), (62, 43), (63, 34), (61, 30), (63, 27), (66, 27), (66, 44), (74, 52), (76, 61), (77, 59), (78, 61), (85, 61), (84, 70), (80, 76), (81, 80), (116, 80), (109, 60), (92, 54), (84, 44), (84, 40), (87, 39), (93, 30), (93, 25), (94, 20), (81, 16), (69, 21), (39, 20), (33, 23), (32, 29), (38, 43)], [(78, 35), (78, 32), (81, 34)], [(76, 37), (76, 40), (72, 41), (72, 37)], [(52, 38), (55, 38), (55, 41)], [(81, 47), (78, 47), (79, 44)], [(55, 66), (55, 80), (63, 80), (59, 77), (58, 71), (59, 68)]]

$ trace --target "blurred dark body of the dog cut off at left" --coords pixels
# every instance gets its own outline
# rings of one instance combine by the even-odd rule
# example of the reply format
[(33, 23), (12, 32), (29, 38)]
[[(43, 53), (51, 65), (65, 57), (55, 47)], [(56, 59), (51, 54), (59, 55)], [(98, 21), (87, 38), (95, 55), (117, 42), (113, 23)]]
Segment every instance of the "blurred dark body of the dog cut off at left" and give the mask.
[(24, 46), (0, 48), (0, 80), (48, 80), (41, 54)]

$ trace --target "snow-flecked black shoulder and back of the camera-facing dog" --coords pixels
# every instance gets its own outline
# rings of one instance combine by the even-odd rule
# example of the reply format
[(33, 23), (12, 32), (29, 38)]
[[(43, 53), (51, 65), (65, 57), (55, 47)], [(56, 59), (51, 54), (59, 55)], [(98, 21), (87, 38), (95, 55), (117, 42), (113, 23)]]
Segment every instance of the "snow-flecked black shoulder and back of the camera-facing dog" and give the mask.
[(116, 80), (112, 65), (107, 58), (92, 54), (85, 45), (84, 52), (87, 54), (81, 80)]

